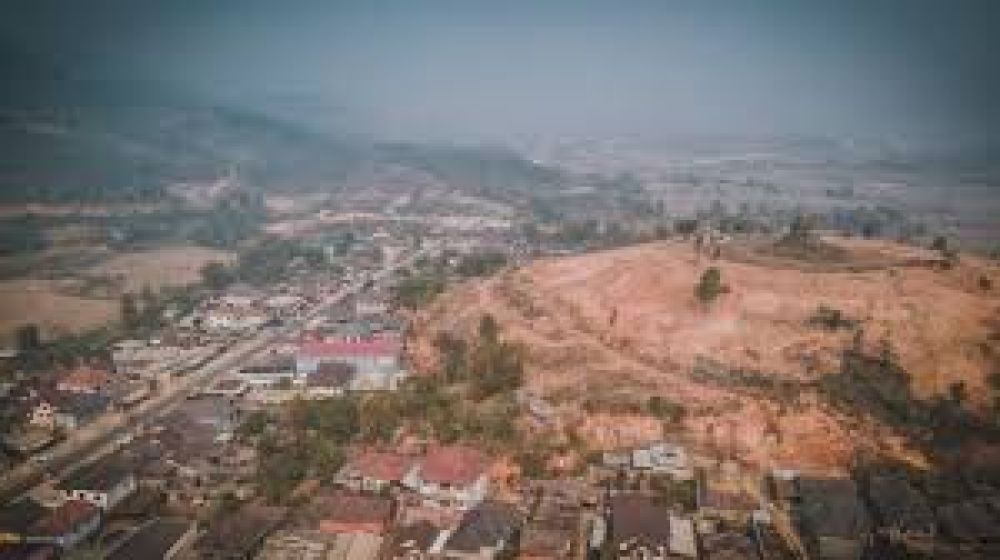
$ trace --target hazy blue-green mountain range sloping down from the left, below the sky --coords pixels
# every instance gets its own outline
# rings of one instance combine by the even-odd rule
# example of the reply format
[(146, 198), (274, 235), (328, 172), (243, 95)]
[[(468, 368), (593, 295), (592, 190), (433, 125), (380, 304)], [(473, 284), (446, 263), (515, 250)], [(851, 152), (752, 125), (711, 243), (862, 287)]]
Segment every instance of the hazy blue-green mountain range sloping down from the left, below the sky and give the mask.
[[(2, 50), (2, 49), (0, 49)], [(0, 201), (145, 201), (166, 186), (238, 169), (251, 188), (337, 188), (393, 164), (463, 186), (524, 189), (557, 179), (503, 150), (379, 144), (322, 133), (151, 83), (64, 78), (0, 56)]]

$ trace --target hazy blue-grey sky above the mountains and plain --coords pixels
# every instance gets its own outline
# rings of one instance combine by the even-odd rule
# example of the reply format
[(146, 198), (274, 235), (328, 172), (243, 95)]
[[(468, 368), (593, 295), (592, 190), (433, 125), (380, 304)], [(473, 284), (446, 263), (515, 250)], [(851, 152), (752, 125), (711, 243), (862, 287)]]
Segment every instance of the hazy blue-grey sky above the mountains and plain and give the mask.
[(81, 75), (396, 138), (1000, 129), (996, 1), (0, 3), (8, 44)]

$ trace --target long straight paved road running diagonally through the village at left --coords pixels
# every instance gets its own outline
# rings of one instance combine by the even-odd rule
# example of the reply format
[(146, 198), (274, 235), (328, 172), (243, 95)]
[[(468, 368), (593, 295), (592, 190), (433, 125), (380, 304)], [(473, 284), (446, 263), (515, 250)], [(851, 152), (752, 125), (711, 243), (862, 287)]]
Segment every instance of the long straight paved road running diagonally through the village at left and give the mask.
[(144, 422), (149, 422), (164, 416), (177, 403), (189, 395), (196, 394), (209, 386), (220, 374), (230, 371), (233, 366), (246, 357), (260, 351), (280, 337), (294, 333), (304, 324), (327, 312), (332, 306), (349, 296), (364, 291), (370, 285), (377, 285), (387, 279), (396, 270), (412, 265), (417, 259), (430, 254), (431, 248), (416, 251), (408, 257), (386, 265), (368, 278), (362, 279), (350, 286), (342, 288), (337, 293), (328, 296), (306, 316), (294, 324), (278, 329), (265, 330), (253, 338), (241, 341), (212, 359), (201, 368), (192, 371), (171, 384), (163, 394), (142, 403), (135, 410), (117, 415), (106, 415), (91, 426), (75, 432), (73, 437), (60, 443), (48, 452), (49, 460), (45, 465), (25, 462), (18, 465), (2, 481), (0, 481), (0, 502), (6, 502), (30, 491), (31, 488), (51, 479), (61, 480), (81, 466), (93, 462), (103, 454), (114, 449), (114, 442), (132, 434)]

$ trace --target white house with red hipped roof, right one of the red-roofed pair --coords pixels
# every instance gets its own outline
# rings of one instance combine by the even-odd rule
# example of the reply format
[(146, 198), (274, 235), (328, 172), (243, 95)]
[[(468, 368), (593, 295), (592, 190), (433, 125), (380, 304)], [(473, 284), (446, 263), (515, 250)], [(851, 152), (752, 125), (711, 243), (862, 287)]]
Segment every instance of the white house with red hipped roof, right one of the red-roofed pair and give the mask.
[(467, 509), (486, 497), (488, 467), (488, 458), (477, 449), (434, 447), (407, 474), (404, 483), (428, 502)]

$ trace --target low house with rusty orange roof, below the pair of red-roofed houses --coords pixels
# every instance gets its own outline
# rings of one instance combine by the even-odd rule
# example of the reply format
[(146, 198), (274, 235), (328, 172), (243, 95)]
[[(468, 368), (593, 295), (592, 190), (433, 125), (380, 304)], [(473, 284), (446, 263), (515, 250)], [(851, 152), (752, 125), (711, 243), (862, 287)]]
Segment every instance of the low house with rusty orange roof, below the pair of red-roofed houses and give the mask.
[(323, 533), (388, 532), (396, 513), (395, 503), (388, 498), (350, 492), (333, 492), (310, 500), (302, 509), (304, 519)]

